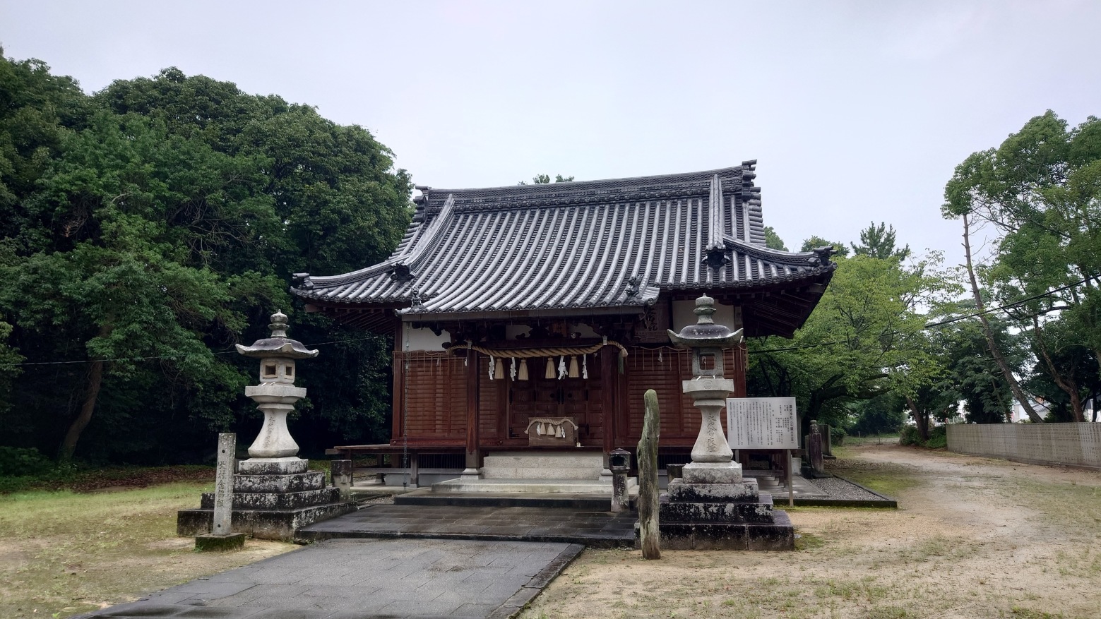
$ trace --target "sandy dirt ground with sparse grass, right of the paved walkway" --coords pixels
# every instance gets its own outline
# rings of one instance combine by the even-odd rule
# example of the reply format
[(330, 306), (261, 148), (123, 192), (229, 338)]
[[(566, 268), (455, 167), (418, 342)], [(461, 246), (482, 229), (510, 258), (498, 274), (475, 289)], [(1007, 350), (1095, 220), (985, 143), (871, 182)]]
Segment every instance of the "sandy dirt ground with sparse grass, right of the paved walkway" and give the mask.
[(587, 550), (522, 617), (1101, 617), (1101, 473), (897, 445), (839, 455), (839, 475), (898, 509), (789, 509), (788, 553)]

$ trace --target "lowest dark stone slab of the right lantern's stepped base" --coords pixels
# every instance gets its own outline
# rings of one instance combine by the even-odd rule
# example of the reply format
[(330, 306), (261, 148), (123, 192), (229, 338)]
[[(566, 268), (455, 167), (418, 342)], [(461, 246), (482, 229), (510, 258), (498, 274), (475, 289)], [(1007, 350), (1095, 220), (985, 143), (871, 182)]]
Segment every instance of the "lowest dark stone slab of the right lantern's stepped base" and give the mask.
[(773, 523), (662, 522), (663, 550), (795, 550), (795, 528), (783, 510)]

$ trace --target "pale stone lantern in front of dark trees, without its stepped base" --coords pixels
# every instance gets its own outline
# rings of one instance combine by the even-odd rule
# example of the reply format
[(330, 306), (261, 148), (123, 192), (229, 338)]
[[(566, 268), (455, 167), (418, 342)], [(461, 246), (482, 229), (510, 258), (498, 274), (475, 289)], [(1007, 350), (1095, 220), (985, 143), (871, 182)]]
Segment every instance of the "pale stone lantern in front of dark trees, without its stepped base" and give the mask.
[(314, 358), (317, 351), (307, 350), (301, 342), (286, 336), (286, 314), (276, 310), (271, 320), (268, 325), (271, 338), (257, 340), (251, 346), (237, 345), (237, 352), (260, 360), (260, 384), (244, 388), (244, 395), (264, 413), (264, 424), (249, 447), (249, 455), (250, 461), (297, 461), (298, 443), (286, 429), (286, 416), (294, 410), (294, 404), (306, 396), (306, 389), (294, 386), (294, 362)]

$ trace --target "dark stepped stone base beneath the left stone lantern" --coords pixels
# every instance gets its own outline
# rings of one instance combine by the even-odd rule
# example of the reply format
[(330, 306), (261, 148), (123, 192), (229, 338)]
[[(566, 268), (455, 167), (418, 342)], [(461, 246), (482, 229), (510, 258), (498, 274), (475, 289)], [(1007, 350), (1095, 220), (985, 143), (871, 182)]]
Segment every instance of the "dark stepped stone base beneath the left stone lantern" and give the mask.
[[(308, 461), (298, 457), (241, 461), (233, 475), (232, 531), (291, 541), (295, 529), (356, 510), (340, 488), (326, 486), (325, 473), (307, 468)], [(177, 513), (176, 534), (208, 533), (212, 523), (214, 494), (204, 493), (199, 509)]]

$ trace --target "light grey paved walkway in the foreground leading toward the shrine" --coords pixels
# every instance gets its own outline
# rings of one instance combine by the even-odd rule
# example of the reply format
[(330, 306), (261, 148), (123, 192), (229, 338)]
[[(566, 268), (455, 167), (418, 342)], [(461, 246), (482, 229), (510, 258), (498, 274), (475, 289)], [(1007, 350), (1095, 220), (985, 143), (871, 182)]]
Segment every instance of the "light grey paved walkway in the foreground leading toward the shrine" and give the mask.
[(482, 540), (328, 540), (81, 615), (227, 619), (504, 619), (584, 546)]

